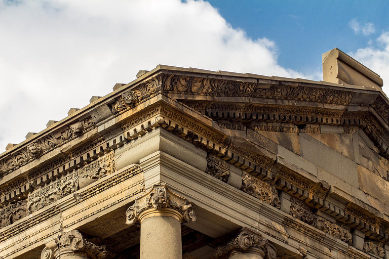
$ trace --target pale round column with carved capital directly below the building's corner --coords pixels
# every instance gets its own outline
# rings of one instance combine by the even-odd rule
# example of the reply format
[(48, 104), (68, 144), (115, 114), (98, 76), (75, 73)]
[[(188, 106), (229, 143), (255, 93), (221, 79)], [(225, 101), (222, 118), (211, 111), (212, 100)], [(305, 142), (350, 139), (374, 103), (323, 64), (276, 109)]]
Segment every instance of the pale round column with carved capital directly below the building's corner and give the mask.
[(188, 201), (166, 184), (154, 185), (126, 212), (129, 225), (140, 223), (140, 258), (182, 258), (181, 223), (195, 222)]

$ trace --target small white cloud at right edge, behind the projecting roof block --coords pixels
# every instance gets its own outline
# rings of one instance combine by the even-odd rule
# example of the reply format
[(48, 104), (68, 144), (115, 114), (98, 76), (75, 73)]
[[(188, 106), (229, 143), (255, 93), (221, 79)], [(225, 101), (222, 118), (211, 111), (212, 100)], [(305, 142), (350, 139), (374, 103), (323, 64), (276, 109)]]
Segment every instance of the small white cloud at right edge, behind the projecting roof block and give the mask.
[(383, 80), (383, 90), (387, 92), (385, 85), (389, 84), (389, 31), (383, 32), (374, 46), (359, 49), (349, 55), (379, 74)]

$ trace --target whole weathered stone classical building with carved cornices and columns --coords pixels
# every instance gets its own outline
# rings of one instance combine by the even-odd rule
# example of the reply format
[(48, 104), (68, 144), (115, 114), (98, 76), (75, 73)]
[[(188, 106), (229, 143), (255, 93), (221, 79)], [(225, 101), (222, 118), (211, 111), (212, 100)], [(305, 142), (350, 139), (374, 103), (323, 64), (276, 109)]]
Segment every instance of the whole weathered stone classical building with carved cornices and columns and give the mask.
[(389, 258), (382, 79), (323, 74), (160, 65), (70, 109), (0, 155), (1, 258)]

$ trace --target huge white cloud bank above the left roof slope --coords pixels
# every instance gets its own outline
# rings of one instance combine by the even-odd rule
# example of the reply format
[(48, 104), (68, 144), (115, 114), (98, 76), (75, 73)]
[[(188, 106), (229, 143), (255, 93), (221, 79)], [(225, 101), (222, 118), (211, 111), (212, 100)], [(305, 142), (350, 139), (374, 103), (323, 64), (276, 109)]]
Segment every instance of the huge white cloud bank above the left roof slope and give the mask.
[(0, 150), (158, 64), (307, 77), (203, 1), (0, 1), (0, 38)]

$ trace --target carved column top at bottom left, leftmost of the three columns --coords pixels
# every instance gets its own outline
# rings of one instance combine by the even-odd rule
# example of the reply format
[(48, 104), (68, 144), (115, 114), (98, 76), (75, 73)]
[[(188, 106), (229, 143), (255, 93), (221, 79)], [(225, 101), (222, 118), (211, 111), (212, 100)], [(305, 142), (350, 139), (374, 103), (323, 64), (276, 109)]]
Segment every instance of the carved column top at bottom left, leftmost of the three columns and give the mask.
[(55, 248), (46, 246), (41, 259), (102, 259), (106, 254), (105, 245), (96, 245), (80, 231), (71, 230), (59, 238)]

